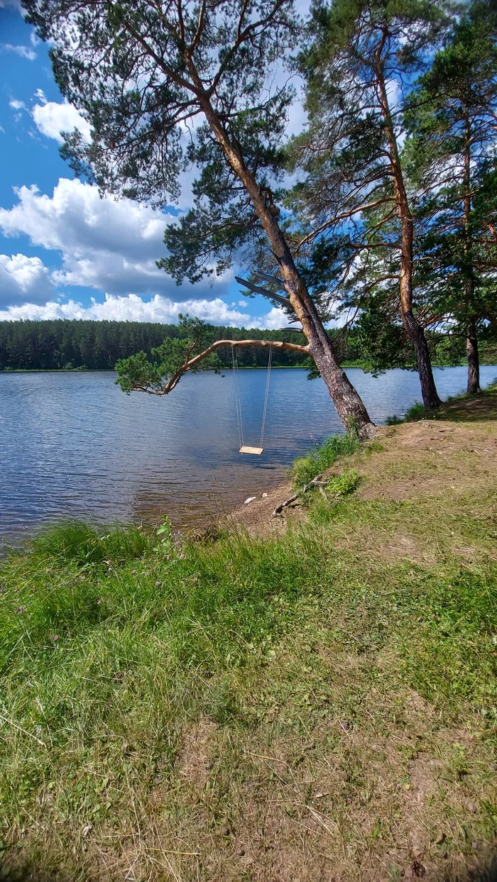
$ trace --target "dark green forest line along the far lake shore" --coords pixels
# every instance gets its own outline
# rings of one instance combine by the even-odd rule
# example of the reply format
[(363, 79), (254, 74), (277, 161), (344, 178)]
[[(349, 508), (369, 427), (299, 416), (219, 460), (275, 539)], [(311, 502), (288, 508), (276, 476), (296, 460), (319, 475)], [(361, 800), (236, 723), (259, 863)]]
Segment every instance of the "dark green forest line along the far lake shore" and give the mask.
[[(289, 340), (305, 344), (304, 335), (298, 331), (259, 331), (255, 328), (232, 328), (207, 325), (214, 340)], [(0, 322), (0, 370), (113, 370), (119, 358), (127, 358), (144, 351), (150, 358), (152, 349), (160, 346), (166, 337), (177, 336), (177, 325), (156, 325), (153, 322), (116, 322), (54, 319), (52, 321)], [(360, 364), (368, 369), (371, 358), (368, 338), (360, 327), (352, 327), (346, 334), (332, 329), (335, 348), (342, 363)], [(433, 363), (456, 364), (463, 361), (462, 337), (427, 332)], [(403, 348), (399, 341), (396, 364), (406, 368), (414, 366), (409, 346)], [(222, 366), (231, 365), (230, 348), (218, 350)], [(497, 362), (495, 347), (485, 344), (481, 351), (482, 361)], [(259, 347), (238, 348), (239, 367), (265, 367), (267, 349)], [(276, 367), (311, 367), (302, 355), (275, 350), (273, 364)]]

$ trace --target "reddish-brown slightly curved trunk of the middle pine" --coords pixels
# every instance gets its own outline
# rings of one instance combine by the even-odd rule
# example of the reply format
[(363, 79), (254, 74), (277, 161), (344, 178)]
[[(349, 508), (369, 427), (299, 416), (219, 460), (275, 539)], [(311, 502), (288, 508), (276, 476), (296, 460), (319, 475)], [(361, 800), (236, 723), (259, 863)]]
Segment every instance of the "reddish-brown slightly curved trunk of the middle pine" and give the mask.
[(388, 104), (387, 87), (383, 75), (382, 62), (379, 61), (377, 68), (378, 86), (380, 90), (381, 113), (385, 121), (387, 132), (390, 168), (394, 178), (397, 213), (401, 221), (401, 273), (400, 273), (400, 301), (401, 318), (406, 332), (409, 334), (416, 363), (418, 365), (419, 381), (423, 404), (430, 410), (441, 406), (441, 400), (433, 379), (432, 360), (425, 332), (412, 311), (412, 215), (410, 213), (409, 199), (403, 180), (403, 169), (399, 157), (397, 140), (395, 138), (394, 123)]

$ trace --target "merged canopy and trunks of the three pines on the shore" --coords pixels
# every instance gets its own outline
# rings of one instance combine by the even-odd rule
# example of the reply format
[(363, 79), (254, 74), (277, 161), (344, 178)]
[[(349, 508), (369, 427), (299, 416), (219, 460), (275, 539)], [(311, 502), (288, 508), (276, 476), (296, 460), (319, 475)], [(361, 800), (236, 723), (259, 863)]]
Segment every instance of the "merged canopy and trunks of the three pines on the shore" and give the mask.
[[(414, 352), (428, 406), (440, 403), (430, 328), (448, 334), (454, 358), (464, 334), (478, 365), (477, 338), (495, 326), (492, 0), (317, 0), (305, 26), (292, 0), (23, 4), (91, 125), (88, 140), (65, 134), (72, 168), (102, 193), (160, 208), (193, 175), (192, 206), (166, 228), (158, 265), (178, 284), (234, 262), (263, 270), (266, 295), (304, 336), (275, 347), (313, 360), (345, 425), (367, 434), (371, 421), (323, 325), (333, 316), (355, 327), (373, 370)], [(292, 68), (308, 120), (288, 146)], [(122, 385), (167, 393), (185, 370), (246, 345), (223, 339), (187, 318), (134, 362), (124, 356)]]

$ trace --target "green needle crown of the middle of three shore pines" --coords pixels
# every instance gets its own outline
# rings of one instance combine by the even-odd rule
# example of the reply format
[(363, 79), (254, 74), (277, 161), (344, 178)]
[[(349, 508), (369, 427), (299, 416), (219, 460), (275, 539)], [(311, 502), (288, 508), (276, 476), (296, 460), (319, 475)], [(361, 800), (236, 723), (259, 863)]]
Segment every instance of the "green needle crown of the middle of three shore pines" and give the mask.
[(328, 292), (328, 310), (361, 310), (375, 372), (412, 359), (399, 319), (395, 186), (405, 184), (394, 175), (403, 176), (402, 107), (450, 21), (443, 2), (318, 3), (300, 56), (309, 124), (290, 146), (290, 168), (301, 174), (287, 203), (305, 235), (308, 283)]

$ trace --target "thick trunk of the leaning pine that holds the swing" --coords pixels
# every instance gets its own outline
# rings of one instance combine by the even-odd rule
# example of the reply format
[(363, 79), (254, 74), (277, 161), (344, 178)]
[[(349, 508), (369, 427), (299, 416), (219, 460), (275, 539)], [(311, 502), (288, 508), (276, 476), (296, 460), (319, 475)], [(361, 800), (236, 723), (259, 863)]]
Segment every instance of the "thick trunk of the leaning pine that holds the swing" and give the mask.
[[(195, 71), (191, 72), (192, 76), (194, 76)], [(203, 92), (200, 80), (197, 85)], [(355, 428), (358, 430), (360, 437), (373, 435), (374, 424), (367, 413), (363, 400), (338, 363), (333, 344), (321, 322), (315, 303), (297, 270), (290, 248), (275, 219), (275, 215), (271, 212), (270, 206), (267, 205), (265, 194), (260, 190), (260, 186), (252, 171), (246, 168), (243, 156), (237, 149), (237, 146), (230, 143), (230, 139), (205, 92), (203, 92), (200, 98), (200, 106), (206, 116), (207, 123), (215, 134), (215, 138), (217, 138), (219, 145), (222, 147), (223, 153), (230, 162), (231, 168), (241, 183), (243, 183), (245, 191), (252, 200), (255, 213), (267, 234), (275, 258), (280, 266), (282, 280), (289, 296), (291, 307), (302, 323), (302, 330), (309, 342), (309, 353), (312, 355), (316, 367), (328, 387), (328, 392), (343, 425), (346, 429)]]

